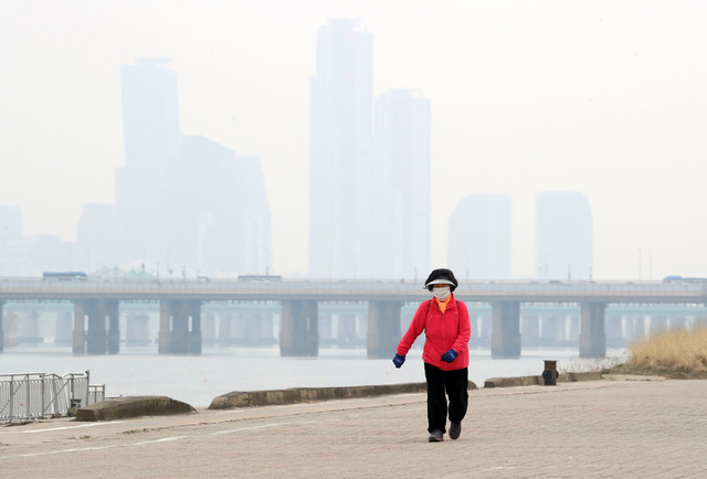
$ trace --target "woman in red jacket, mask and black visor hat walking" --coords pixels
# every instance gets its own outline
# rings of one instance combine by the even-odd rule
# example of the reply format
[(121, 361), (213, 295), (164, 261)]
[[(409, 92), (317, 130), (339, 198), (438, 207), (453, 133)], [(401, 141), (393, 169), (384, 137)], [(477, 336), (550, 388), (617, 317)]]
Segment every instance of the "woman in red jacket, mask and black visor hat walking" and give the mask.
[[(450, 269), (434, 269), (424, 283), (433, 298), (422, 302), (412, 318), (408, 332), (398, 344), (393, 358), (395, 368), (405, 361), (412, 343), (424, 331), (422, 350), (424, 376), (428, 382), (428, 432), (430, 443), (444, 440), (447, 411), (450, 438), (462, 434), (462, 419), (468, 403), (468, 340), (472, 328), (466, 305), (454, 298), (458, 286)], [(449, 407), (447, 397), (449, 396)]]

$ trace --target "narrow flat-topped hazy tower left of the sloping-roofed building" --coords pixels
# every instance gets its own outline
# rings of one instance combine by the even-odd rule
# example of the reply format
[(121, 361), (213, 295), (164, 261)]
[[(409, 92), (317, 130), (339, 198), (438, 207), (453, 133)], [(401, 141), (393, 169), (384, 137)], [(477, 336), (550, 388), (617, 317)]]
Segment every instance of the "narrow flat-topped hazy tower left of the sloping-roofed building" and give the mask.
[(177, 75), (166, 60), (120, 66), (125, 167), (115, 177), (115, 207), (122, 259), (162, 263), (170, 160), (179, 155)]

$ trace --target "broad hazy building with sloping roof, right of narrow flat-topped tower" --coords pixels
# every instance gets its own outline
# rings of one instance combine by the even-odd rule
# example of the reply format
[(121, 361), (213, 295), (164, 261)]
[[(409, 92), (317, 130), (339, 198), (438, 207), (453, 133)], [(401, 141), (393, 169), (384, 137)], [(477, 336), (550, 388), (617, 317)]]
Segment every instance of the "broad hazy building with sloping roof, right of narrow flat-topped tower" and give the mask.
[(170, 256), (200, 274), (267, 274), (271, 214), (260, 158), (200, 136), (182, 138), (175, 162), (169, 213)]

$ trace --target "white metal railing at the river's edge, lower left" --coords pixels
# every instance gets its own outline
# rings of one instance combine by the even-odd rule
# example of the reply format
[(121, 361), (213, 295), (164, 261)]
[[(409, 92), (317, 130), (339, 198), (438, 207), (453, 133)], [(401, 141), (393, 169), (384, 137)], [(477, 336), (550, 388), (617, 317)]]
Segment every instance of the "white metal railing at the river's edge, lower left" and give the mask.
[(65, 416), (71, 407), (105, 400), (105, 384), (89, 384), (91, 373), (0, 374), (0, 421)]

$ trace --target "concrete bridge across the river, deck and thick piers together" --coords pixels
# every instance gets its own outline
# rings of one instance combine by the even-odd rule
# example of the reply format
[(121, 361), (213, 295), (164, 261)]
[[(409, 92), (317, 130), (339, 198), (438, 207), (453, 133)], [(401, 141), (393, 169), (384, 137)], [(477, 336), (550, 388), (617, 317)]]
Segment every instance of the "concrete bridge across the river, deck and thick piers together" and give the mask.
[[(455, 296), (468, 304), (492, 307), (490, 349), (494, 358), (520, 355), (520, 305), (580, 306), (580, 355), (606, 352), (604, 310), (608, 305), (705, 305), (701, 283), (465, 283)], [(0, 315), (8, 300), (70, 300), (74, 308), (73, 352), (117, 353), (119, 304), (158, 301), (158, 352), (201, 353), (201, 308), (228, 301), (277, 301), (282, 307), (282, 355), (317, 355), (320, 302), (368, 304), (369, 358), (388, 358), (400, 336), (400, 311), (405, 304), (429, 299), (419, 281), (373, 280), (42, 280), (0, 278)], [(87, 329), (86, 329), (87, 324)], [(2, 348), (0, 323), (0, 350)]]

